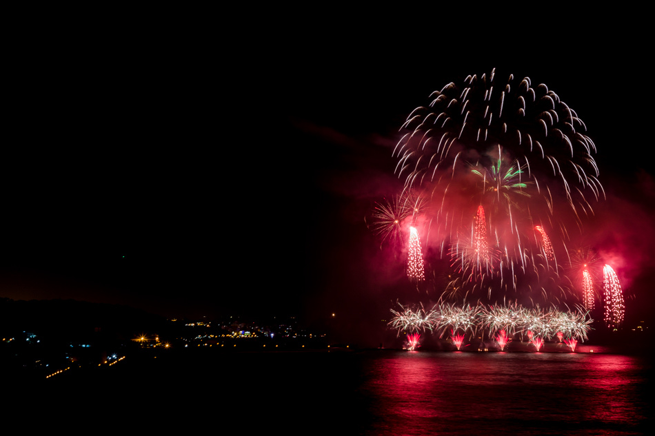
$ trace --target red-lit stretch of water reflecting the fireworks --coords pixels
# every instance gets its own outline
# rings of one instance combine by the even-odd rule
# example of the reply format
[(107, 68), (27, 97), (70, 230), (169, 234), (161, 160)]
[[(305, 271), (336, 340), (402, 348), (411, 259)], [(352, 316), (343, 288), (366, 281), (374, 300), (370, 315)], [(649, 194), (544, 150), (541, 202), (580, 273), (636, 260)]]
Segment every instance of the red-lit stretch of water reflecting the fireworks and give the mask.
[(652, 412), (637, 357), (394, 353), (361, 386), (371, 435), (630, 435)]

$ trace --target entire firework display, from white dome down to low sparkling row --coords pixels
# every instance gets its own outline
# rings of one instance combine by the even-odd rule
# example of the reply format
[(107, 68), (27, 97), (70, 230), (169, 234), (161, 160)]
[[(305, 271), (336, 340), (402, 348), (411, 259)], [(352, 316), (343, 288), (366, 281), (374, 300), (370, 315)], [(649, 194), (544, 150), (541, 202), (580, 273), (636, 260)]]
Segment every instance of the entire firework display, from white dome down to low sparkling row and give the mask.
[[(605, 191), (585, 123), (543, 83), (495, 70), (449, 83), (426, 103), (407, 116), (392, 152), (402, 193), (376, 203), (369, 225), (394, 253), (407, 247), (407, 277), (438, 303), (392, 310), (390, 326), (450, 330), (457, 349), (475, 334), (501, 350), (516, 335), (537, 351), (545, 340), (586, 340), (598, 256), (567, 245)], [(623, 295), (609, 265), (603, 275), (614, 328)]]

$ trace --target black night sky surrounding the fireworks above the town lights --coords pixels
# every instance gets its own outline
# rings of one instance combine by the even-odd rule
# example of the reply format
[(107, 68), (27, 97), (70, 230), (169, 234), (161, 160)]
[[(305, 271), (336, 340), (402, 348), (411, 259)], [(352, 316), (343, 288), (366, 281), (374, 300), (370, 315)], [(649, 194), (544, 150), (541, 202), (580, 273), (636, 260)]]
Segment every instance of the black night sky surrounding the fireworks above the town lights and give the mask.
[(589, 243), (615, 262), (628, 317), (650, 316), (651, 50), (645, 33), (572, 27), (26, 41), (1, 149), (0, 296), (170, 317), (335, 313), (365, 331), (396, 299), (420, 300), (364, 222), (401, 187), (399, 128), (432, 91), (496, 68), (545, 83), (587, 125), (607, 193)]

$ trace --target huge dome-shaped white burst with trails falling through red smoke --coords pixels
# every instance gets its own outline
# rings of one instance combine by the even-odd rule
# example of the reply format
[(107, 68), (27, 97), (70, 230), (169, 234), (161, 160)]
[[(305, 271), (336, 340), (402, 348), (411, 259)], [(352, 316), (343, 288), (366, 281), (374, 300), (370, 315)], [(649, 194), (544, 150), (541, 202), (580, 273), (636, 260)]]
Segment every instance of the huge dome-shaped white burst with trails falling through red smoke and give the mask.
[[(530, 293), (533, 301), (543, 295), (552, 302), (572, 293), (557, 283), (554, 242), (563, 246), (569, 238), (564, 223), (579, 227), (593, 213), (590, 201), (605, 196), (583, 121), (546, 85), (532, 87), (530, 79), (512, 75), (499, 82), (493, 70), (450, 83), (431, 98), (407, 117), (393, 152), (405, 189), (430, 199), (425, 240), (436, 243), (442, 257), (450, 248), (451, 266), (459, 264), (467, 276), (462, 285), (471, 291), (481, 291), (488, 277), (505, 296)], [(461, 235), (476, 207), (485, 220), (476, 218), (467, 241)], [(542, 241), (534, 236), (535, 222), (543, 223)], [(545, 226), (552, 229), (548, 236)], [(541, 247), (545, 256), (535, 256)], [(498, 265), (494, 274), (492, 264)], [(518, 286), (534, 275), (534, 289)], [(493, 300), (492, 286), (485, 286)], [(558, 288), (556, 296), (551, 287)]]

